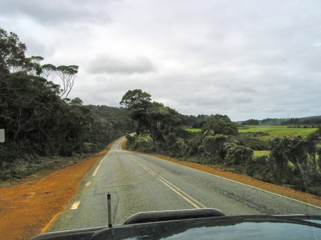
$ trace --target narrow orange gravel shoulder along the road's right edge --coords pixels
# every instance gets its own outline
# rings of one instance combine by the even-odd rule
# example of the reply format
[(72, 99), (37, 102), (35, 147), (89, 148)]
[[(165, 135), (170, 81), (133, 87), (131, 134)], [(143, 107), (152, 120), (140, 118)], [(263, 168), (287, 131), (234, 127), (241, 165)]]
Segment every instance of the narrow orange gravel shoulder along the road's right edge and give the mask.
[[(122, 149), (123, 150), (127, 150), (126, 149), (126, 141), (122, 144)], [(159, 155), (159, 154), (150, 154), (150, 153), (144, 153), (144, 152), (138, 152), (135, 151), (137, 153), (142, 153), (142, 154), (147, 154), (150, 156), (154, 156), (154, 157), (158, 157), (164, 160), (168, 160), (180, 165), (184, 165), (184, 166), (188, 166), (197, 170), (201, 170), (207, 173), (211, 173), (217, 176), (221, 176), (230, 180), (234, 180), (240, 183), (244, 183), (246, 185), (250, 185), (250, 186), (254, 186), (266, 191), (270, 191), (282, 196), (286, 196), (286, 197), (290, 197), (299, 201), (303, 201), (315, 206), (320, 206), (321, 207), (321, 197), (309, 194), (309, 193), (305, 193), (305, 192), (301, 192), (301, 191), (296, 191), (294, 189), (288, 188), (288, 187), (284, 187), (284, 186), (279, 186), (279, 185), (275, 185), (272, 183), (268, 183), (268, 182), (264, 182), (264, 181), (260, 181), (257, 179), (254, 179), (252, 177), (249, 176), (244, 176), (241, 174), (237, 174), (234, 172), (230, 172), (230, 171), (224, 171), (212, 166), (207, 166), (207, 165), (203, 165), (203, 164), (199, 164), (199, 163), (194, 163), (194, 162), (189, 162), (189, 161), (179, 161), (177, 159), (168, 157), (168, 156), (164, 156), (164, 155)]]

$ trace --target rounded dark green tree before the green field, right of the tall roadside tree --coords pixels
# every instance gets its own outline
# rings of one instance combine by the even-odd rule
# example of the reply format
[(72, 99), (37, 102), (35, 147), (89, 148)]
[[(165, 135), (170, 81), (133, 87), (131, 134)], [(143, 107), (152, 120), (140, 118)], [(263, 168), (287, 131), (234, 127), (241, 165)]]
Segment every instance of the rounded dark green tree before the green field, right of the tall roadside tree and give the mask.
[(202, 132), (213, 130), (215, 134), (236, 135), (238, 133), (235, 122), (226, 122), (223, 119), (212, 118), (202, 127)]

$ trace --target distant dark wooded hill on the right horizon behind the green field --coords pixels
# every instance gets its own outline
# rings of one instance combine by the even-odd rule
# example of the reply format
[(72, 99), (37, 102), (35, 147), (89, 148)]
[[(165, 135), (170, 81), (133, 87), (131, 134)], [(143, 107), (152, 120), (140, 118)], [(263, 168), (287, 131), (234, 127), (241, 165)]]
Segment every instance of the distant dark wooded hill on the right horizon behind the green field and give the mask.
[[(259, 121), (259, 125), (321, 124), (321, 116), (265, 118), (258, 121)], [(239, 125), (241, 125), (243, 122), (244, 121), (237, 121)]]

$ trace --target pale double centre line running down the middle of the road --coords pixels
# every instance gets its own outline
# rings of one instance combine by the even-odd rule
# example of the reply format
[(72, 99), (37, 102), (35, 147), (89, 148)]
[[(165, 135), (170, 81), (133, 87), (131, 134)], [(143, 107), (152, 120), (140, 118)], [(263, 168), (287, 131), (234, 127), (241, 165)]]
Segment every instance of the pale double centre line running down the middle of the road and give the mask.
[(171, 182), (169, 182), (168, 180), (166, 180), (165, 178), (163, 178), (162, 176), (159, 176), (157, 173), (153, 172), (151, 169), (149, 169), (147, 166), (145, 166), (144, 164), (140, 163), (139, 161), (135, 160), (134, 158), (132, 158), (131, 156), (129, 156), (129, 158), (131, 158), (132, 160), (134, 160), (138, 165), (140, 165), (142, 168), (144, 168), (146, 171), (148, 171), (151, 175), (155, 176), (158, 180), (160, 180), (161, 182), (163, 182), (165, 185), (167, 185), (169, 188), (171, 188), (174, 192), (176, 192), (178, 195), (180, 195), (181, 197), (183, 197), (185, 200), (187, 200), (190, 204), (192, 204), (193, 206), (195, 206), (196, 208), (201, 208), (201, 207), (205, 207), (206, 206), (204, 204), (202, 204), (201, 202), (199, 202), (198, 200), (196, 200), (194, 197), (190, 196), (189, 194), (187, 194), (185, 191), (181, 190), (180, 188), (178, 188), (177, 186), (175, 186), (174, 184), (172, 184)]

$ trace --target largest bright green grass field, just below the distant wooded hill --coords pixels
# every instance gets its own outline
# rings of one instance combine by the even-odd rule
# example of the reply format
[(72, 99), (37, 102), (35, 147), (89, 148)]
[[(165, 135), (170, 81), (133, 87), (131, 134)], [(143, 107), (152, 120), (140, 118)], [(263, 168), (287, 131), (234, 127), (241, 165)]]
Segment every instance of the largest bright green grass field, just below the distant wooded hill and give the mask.
[[(246, 129), (247, 128), (247, 129)], [(268, 135), (257, 135), (260, 140), (267, 140), (273, 136), (306, 136), (311, 132), (316, 131), (316, 127), (307, 127), (307, 128), (297, 128), (297, 127), (287, 127), (287, 126), (280, 126), (280, 125), (251, 125), (251, 126), (241, 126), (239, 127), (240, 133), (250, 133), (250, 132), (259, 132), (262, 131), (264, 133), (268, 133)]]

